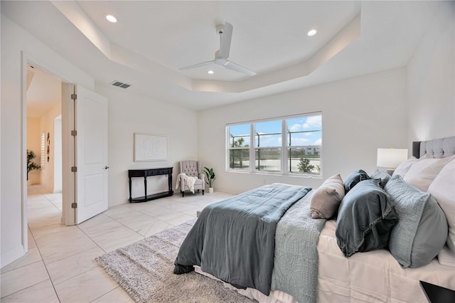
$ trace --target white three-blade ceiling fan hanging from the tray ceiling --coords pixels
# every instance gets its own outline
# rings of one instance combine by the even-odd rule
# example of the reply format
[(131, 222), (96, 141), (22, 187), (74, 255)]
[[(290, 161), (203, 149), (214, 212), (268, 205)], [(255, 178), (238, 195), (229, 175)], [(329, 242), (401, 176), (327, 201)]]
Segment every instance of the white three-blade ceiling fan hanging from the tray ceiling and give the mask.
[(216, 27), (216, 32), (220, 35), (220, 49), (215, 52), (215, 59), (203, 63), (189, 65), (184, 68), (180, 68), (180, 70), (189, 70), (190, 68), (199, 68), (201, 66), (215, 63), (228, 68), (228, 70), (235, 70), (236, 72), (244, 73), (250, 76), (256, 75), (256, 73), (252, 70), (244, 68), (243, 66), (240, 66), (237, 63), (233, 63), (232, 61), (228, 60), (230, 41), (232, 39), (232, 24), (225, 22), (224, 24)]

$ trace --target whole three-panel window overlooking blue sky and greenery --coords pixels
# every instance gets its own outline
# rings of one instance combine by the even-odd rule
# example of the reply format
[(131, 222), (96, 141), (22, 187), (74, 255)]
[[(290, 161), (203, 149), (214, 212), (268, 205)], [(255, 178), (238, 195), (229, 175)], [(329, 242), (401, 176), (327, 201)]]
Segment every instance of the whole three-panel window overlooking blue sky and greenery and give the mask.
[(230, 171), (321, 175), (321, 113), (232, 124), (226, 134)]

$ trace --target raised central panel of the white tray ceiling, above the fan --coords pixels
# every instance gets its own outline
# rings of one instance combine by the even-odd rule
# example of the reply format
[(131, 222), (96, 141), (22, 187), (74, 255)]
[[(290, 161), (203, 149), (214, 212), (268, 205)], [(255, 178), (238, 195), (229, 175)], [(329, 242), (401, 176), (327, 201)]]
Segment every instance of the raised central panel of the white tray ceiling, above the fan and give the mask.
[[(77, 1), (109, 41), (167, 68), (213, 60), (216, 26), (234, 27), (230, 59), (257, 73), (307, 60), (360, 13), (358, 1)], [(117, 16), (109, 23), (104, 15)], [(319, 28), (319, 35), (306, 32)], [(208, 68), (190, 78), (239, 80), (240, 73)], [(221, 73), (225, 71), (226, 73)], [(229, 73), (228, 73), (229, 72)]]

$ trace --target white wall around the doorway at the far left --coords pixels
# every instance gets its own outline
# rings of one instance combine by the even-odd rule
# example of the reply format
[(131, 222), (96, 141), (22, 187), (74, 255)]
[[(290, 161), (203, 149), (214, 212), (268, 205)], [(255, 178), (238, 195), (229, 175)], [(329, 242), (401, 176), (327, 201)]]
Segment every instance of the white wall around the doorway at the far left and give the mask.
[[(89, 89), (94, 80), (63, 59), (9, 18), (1, 15), (1, 200), (0, 239), (1, 267), (26, 251), (26, 222), (22, 220), (22, 203), (26, 201), (25, 108), (21, 99), (26, 58), (70, 83)], [(26, 210), (26, 208), (25, 208)]]

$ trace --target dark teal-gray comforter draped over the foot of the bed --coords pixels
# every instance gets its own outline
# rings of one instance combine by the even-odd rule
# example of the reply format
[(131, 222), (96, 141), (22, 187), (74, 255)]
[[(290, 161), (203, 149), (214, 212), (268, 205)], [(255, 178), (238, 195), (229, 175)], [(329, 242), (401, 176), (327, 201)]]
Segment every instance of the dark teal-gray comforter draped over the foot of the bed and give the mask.
[(272, 184), (210, 204), (183, 241), (174, 273), (191, 272), (193, 265), (199, 265), (236, 287), (251, 287), (268, 295), (277, 223), (309, 191), (311, 188), (302, 186)]

